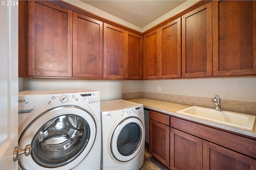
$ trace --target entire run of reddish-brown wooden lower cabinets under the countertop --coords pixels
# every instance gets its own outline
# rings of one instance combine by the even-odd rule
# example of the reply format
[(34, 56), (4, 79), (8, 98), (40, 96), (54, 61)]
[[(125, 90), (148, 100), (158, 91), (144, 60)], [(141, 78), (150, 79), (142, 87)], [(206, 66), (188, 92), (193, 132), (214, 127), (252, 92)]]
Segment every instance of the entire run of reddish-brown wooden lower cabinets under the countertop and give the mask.
[(256, 139), (149, 111), (149, 152), (171, 170), (256, 170)]

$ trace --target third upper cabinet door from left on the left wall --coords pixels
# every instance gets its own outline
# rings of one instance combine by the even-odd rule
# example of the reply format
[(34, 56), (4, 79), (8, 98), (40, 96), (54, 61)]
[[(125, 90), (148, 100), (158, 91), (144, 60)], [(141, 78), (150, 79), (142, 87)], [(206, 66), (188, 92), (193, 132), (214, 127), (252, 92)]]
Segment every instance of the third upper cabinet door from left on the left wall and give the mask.
[(104, 23), (103, 77), (125, 78), (125, 30)]

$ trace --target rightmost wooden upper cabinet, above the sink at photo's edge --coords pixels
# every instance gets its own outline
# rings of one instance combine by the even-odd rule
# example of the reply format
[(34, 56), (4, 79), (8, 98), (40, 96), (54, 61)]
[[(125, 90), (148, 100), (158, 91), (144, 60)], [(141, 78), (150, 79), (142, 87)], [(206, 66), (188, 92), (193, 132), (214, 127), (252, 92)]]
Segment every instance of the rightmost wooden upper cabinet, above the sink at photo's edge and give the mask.
[(213, 1), (213, 75), (256, 74), (256, 1)]

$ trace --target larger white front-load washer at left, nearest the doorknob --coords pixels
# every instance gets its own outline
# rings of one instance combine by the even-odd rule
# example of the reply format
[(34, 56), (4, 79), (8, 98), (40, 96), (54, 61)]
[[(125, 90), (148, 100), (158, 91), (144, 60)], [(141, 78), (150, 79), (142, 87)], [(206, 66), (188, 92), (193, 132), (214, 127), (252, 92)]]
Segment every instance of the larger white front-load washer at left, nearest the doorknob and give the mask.
[(19, 92), (19, 147), (24, 170), (100, 170), (99, 91), (69, 89)]

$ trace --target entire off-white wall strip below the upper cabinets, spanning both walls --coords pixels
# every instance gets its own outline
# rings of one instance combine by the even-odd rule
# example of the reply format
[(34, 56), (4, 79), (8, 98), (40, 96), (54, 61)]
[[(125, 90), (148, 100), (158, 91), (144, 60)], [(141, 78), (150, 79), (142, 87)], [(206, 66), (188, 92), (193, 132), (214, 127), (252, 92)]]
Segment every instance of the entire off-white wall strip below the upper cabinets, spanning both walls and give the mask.
[[(161, 91), (158, 91), (161, 86)], [(19, 78), (19, 89), (74, 89), (100, 91), (101, 101), (121, 99), (122, 93), (153, 92), (256, 102), (256, 77), (222, 79), (171, 79), (171, 80), (76, 80)]]

